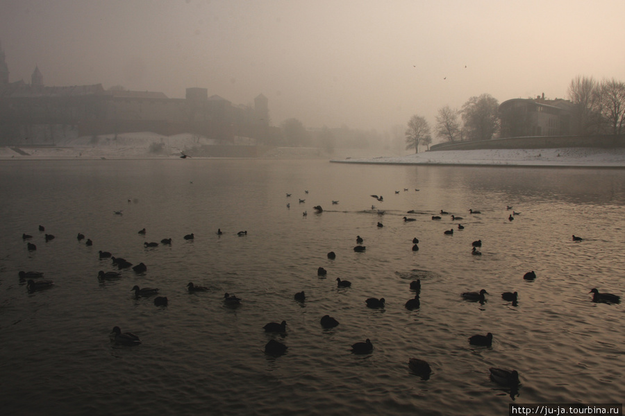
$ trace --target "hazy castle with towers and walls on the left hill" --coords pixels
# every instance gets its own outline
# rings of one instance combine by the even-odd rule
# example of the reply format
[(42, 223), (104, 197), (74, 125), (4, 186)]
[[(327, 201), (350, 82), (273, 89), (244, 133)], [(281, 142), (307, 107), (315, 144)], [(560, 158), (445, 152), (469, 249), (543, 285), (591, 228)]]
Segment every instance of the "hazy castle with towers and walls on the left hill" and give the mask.
[(208, 89), (199, 87), (187, 88), (185, 98), (168, 98), (163, 92), (105, 90), (101, 84), (52, 87), (44, 85), (36, 65), (31, 83), (10, 82), (0, 47), (0, 144), (24, 144), (26, 137), (31, 137), (31, 143), (54, 144), (55, 135), (74, 130), (77, 137), (192, 132), (220, 144), (235, 144), (241, 137), (247, 144), (260, 144), (275, 129), (269, 120), (263, 94), (251, 106), (208, 96)]

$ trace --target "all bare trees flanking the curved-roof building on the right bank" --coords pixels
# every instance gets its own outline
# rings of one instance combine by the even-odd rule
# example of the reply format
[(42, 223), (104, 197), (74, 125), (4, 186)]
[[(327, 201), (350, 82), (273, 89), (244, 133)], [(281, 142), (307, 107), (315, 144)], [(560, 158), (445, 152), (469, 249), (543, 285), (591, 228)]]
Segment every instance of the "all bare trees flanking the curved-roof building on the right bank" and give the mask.
[[(625, 83), (615, 80), (597, 82), (592, 77), (576, 76), (569, 84), (569, 100), (574, 104), (573, 119), (577, 135), (625, 134)], [(460, 123), (462, 119), (462, 123)], [(500, 128), (499, 101), (490, 94), (469, 98), (456, 110), (445, 105), (438, 110), (434, 128), (441, 141), (488, 140)], [(406, 149), (432, 143), (431, 128), (422, 116), (412, 116), (406, 129)]]

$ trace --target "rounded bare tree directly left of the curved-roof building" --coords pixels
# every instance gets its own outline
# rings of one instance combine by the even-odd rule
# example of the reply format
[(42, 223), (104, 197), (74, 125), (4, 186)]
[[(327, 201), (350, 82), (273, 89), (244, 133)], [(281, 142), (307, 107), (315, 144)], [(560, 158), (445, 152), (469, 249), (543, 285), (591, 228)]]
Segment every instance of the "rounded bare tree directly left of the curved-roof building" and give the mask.
[(490, 94), (471, 97), (462, 105), (462, 121), (469, 140), (490, 140), (499, 132), (499, 101)]

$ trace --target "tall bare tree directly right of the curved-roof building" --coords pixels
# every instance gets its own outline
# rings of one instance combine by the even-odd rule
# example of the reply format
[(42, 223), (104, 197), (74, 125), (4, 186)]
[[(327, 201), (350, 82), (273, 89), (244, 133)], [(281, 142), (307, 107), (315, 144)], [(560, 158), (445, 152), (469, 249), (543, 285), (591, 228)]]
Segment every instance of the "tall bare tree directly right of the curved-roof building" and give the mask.
[(576, 104), (574, 119), (577, 121), (578, 135), (590, 135), (599, 132), (601, 109), (599, 85), (592, 76), (576, 76), (569, 84), (569, 99)]

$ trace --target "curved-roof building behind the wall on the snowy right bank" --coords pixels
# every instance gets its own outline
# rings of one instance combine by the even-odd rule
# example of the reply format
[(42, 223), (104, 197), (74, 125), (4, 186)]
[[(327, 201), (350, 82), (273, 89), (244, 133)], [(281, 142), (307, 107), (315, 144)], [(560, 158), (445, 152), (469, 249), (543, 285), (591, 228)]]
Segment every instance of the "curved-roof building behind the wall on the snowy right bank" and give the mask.
[(571, 101), (512, 98), (499, 105), (501, 137), (566, 136), (576, 131)]

